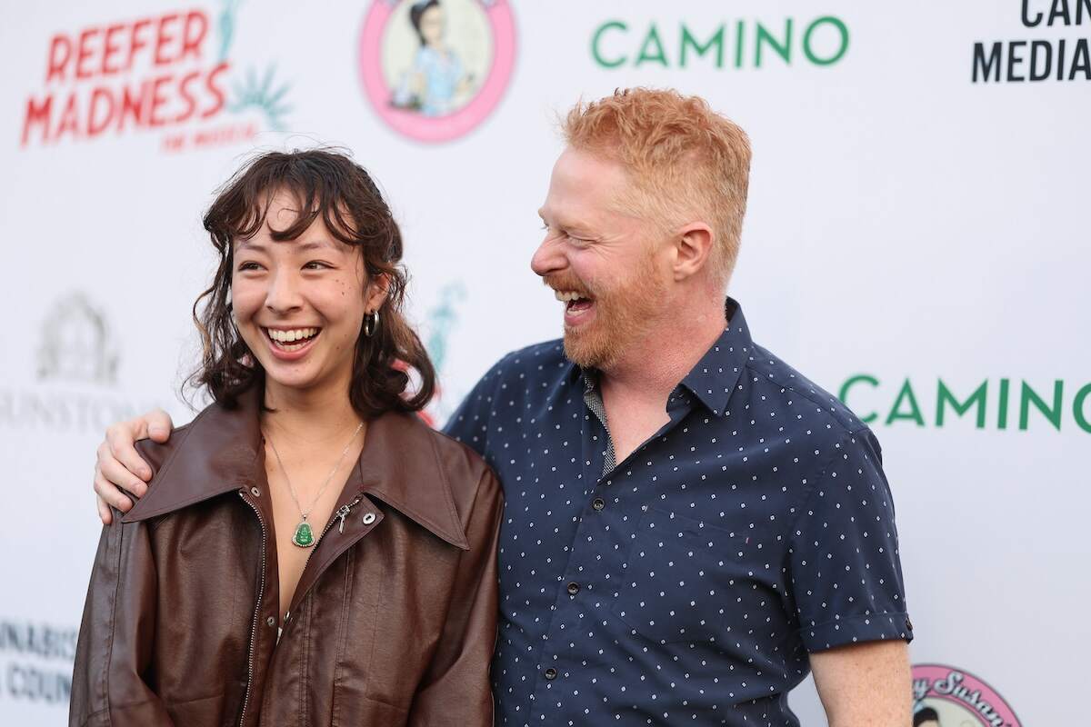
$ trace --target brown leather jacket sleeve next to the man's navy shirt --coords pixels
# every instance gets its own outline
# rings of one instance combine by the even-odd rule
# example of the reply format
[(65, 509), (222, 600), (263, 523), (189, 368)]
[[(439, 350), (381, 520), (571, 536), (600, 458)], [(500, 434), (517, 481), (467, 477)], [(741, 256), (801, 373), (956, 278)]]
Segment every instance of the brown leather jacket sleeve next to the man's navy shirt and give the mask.
[(457, 585), (435, 656), (417, 688), (410, 727), (485, 727), (493, 724), (489, 663), (496, 644), (496, 548), (504, 497), (491, 470), (478, 485), (466, 529)]

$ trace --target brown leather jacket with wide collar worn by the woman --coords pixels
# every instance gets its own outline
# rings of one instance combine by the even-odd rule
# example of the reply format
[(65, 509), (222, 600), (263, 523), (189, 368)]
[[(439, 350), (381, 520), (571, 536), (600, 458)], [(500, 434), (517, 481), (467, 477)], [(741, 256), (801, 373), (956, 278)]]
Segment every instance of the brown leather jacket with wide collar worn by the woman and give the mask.
[(492, 725), (484, 463), (416, 416), (373, 420), (285, 608), (261, 443), (251, 395), (139, 444), (155, 477), (103, 531), (69, 724)]

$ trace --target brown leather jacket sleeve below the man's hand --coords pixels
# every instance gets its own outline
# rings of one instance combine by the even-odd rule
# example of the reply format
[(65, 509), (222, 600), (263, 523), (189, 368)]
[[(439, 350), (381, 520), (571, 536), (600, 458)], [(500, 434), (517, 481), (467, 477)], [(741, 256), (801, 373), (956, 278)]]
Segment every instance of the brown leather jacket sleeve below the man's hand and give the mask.
[(172, 725), (147, 682), (156, 619), (156, 570), (145, 522), (103, 529), (72, 674), (70, 727)]

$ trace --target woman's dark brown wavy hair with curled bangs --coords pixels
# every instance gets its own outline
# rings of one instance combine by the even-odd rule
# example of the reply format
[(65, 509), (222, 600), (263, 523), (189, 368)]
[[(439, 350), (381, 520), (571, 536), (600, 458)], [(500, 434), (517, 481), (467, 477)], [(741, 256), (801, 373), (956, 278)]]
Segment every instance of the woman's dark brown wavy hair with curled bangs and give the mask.
[[(387, 411), (420, 411), (435, 391), (435, 368), (401, 312), (406, 289), (401, 232), (368, 172), (333, 149), (255, 157), (213, 202), (204, 227), (219, 253), (219, 267), (193, 304), (203, 354), (201, 366), (187, 383), (206, 388), (215, 401), (229, 408), (242, 392), (264, 385), (265, 372), (231, 318), (231, 270), (233, 243), (262, 229), (278, 191), (292, 194), (300, 209), (310, 211), (300, 214), (291, 227), (273, 231), (274, 240), (295, 240), (321, 217), (335, 239), (360, 249), (368, 280), (385, 276), (388, 281), (374, 335), (364, 336), (361, 330), (356, 341), (349, 385), (352, 408), (365, 420)], [(407, 392), (411, 372), (418, 381)]]

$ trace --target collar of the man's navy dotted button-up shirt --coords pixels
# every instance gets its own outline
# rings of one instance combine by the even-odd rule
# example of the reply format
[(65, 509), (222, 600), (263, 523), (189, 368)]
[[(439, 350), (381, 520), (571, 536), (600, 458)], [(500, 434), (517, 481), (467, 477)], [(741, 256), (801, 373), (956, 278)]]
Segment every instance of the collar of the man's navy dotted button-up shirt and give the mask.
[[(742, 306), (733, 298), (728, 298), (723, 307), (727, 327), (678, 387), (687, 389), (716, 416), (728, 413), (728, 400), (754, 349)], [(582, 368), (572, 362), (568, 362), (567, 376), (570, 379), (578, 376), (585, 391), (599, 383), (597, 369)]]

